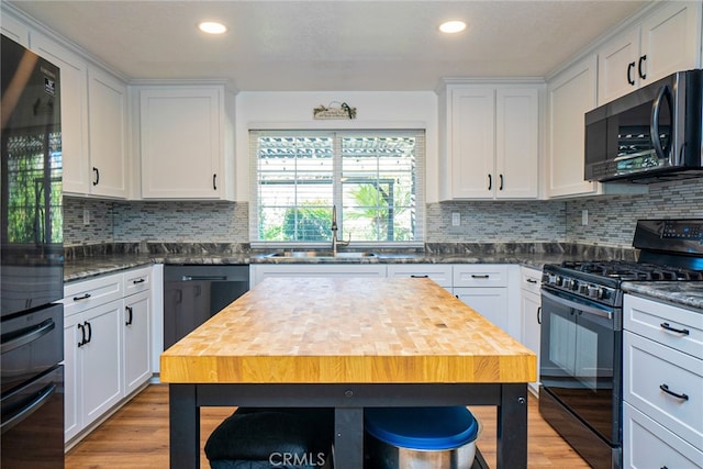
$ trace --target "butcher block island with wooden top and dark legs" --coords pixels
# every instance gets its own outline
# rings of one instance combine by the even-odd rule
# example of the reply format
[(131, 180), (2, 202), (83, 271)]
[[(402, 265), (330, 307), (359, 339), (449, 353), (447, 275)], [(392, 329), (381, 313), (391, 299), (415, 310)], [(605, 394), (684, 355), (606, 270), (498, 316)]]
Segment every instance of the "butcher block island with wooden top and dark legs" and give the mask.
[(199, 466), (208, 405), (335, 407), (341, 469), (364, 407), (496, 405), (498, 466), (526, 467), (535, 355), (429, 279), (270, 278), (160, 359), (172, 468)]

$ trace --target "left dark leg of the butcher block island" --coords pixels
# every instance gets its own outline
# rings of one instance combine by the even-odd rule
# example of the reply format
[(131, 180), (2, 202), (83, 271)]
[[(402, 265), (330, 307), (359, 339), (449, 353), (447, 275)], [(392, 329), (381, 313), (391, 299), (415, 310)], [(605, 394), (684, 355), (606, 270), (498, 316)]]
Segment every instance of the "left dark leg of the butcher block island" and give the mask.
[(194, 384), (168, 386), (171, 469), (200, 468), (200, 409)]

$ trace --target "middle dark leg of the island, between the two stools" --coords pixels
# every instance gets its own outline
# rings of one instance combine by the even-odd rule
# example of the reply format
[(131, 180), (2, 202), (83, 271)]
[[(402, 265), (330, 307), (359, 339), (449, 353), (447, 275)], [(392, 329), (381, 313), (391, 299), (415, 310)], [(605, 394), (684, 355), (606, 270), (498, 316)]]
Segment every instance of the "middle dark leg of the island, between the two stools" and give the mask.
[(362, 407), (336, 407), (334, 411), (334, 467), (364, 467)]

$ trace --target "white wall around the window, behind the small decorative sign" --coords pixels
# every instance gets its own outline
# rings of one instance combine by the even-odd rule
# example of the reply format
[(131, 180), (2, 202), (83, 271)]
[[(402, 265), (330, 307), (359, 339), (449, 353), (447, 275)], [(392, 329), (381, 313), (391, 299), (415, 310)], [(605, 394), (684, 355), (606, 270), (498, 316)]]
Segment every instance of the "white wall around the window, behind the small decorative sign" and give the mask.
[[(356, 108), (355, 120), (313, 119), (319, 105)], [(236, 200), (249, 200), (250, 129), (425, 129), (426, 202), (438, 199), (437, 94), (433, 91), (239, 92), (236, 97)]]

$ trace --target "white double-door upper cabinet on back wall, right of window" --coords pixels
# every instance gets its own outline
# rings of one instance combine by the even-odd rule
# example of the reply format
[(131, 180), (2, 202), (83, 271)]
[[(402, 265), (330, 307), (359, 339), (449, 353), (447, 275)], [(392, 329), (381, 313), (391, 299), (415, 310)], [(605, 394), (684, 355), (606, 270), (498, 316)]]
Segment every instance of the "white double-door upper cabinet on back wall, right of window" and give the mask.
[(536, 199), (540, 85), (447, 83), (440, 199)]

